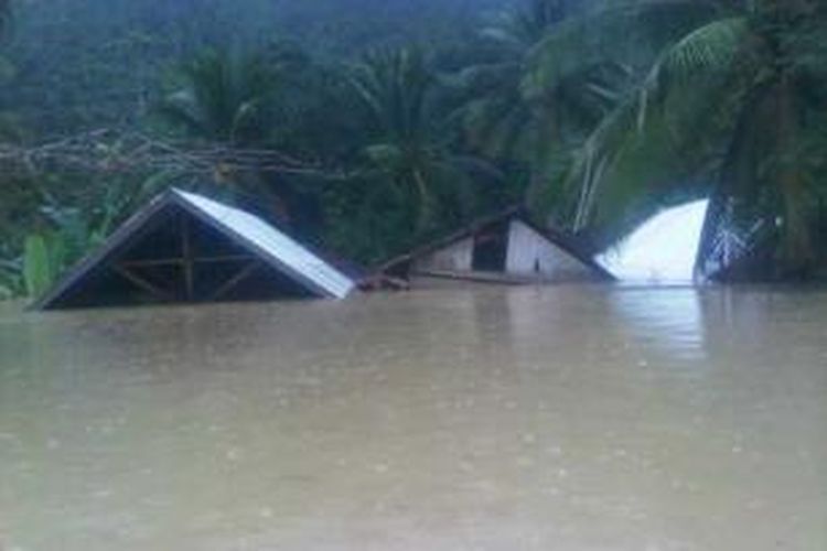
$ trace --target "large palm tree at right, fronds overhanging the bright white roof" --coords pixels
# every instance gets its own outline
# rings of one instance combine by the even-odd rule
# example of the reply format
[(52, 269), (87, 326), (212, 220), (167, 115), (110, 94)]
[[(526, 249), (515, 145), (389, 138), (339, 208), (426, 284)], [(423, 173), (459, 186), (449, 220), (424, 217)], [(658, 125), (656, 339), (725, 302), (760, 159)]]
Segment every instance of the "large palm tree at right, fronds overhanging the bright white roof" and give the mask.
[[(824, 145), (826, 11), (810, 0), (641, 0), (549, 34), (530, 83), (539, 89), (560, 82), (563, 57), (637, 46), (637, 82), (569, 174), (576, 228), (616, 238), (665, 202), (711, 196), (699, 268), (732, 230), (753, 247), (774, 244), (778, 274), (812, 268), (826, 175), (814, 154)], [(651, 48), (643, 63), (641, 44)]]

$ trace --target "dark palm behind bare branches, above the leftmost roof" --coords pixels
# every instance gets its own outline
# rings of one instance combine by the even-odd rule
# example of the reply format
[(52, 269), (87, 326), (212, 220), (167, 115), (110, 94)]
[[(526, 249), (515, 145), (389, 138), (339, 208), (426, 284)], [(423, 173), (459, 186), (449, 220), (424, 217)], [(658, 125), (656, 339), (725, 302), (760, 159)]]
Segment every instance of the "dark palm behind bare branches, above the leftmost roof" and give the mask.
[(271, 149), (287, 120), (279, 111), (284, 107), (286, 74), (302, 63), (294, 52), (276, 45), (267, 55), (207, 50), (182, 65), (182, 84), (163, 99), (159, 115), (190, 145), (227, 150), (212, 168), (213, 181), (198, 181), (196, 186), (206, 184), (211, 193), (227, 199), (249, 196), (248, 203), (264, 206), (282, 222), (297, 218), (304, 197), (290, 179), (249, 166), (237, 169), (233, 158), (268, 151), (280, 155)]

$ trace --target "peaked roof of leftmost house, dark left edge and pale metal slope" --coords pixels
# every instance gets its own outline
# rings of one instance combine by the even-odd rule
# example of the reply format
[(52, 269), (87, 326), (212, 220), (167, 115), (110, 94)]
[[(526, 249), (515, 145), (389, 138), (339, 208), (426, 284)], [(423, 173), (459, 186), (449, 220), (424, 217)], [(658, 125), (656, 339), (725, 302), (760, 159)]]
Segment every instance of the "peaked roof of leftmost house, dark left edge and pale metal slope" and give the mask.
[(202, 195), (172, 188), (129, 218), (97, 251), (80, 261), (40, 299), (35, 307), (55, 307), (83, 285), (90, 274), (114, 263), (123, 249), (129, 248), (170, 208), (178, 208), (212, 228), (223, 239), (245, 250), (259, 263), (271, 267), (310, 295), (343, 299), (356, 287), (337, 268), (264, 219)]

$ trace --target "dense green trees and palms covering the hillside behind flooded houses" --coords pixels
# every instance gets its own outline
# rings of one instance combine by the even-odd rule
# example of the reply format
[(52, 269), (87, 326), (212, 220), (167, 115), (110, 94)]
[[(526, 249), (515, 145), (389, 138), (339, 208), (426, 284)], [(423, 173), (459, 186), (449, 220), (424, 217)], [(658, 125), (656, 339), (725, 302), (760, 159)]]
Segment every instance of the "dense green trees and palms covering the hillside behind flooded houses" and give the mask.
[(127, 166), (109, 161), (128, 141), (103, 139), (82, 166), (3, 158), (0, 296), (36, 294), (168, 185), (365, 263), (515, 202), (610, 245), (657, 208), (710, 196), (701, 268), (718, 268), (734, 236), (750, 276), (814, 276), (827, 226), (826, 11), (0, 1), (0, 142), (25, 152), (117, 129), (194, 159)]

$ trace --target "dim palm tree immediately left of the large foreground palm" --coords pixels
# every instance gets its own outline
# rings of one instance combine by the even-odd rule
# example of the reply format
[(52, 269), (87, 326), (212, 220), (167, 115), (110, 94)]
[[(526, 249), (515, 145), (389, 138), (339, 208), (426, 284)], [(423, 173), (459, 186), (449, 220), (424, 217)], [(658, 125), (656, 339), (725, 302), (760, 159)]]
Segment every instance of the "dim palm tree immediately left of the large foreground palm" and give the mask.
[(617, 66), (578, 65), (554, 88), (525, 86), (537, 45), (591, 3), (528, 0), (500, 13), (480, 32), (482, 50), (488, 54), (458, 78), (469, 96), (459, 111), (466, 138), (487, 156), (517, 160), (528, 168), (529, 202), (541, 182), (560, 170), (565, 152), (579, 141), (582, 129), (605, 112), (613, 101), (614, 80), (623, 77)]

